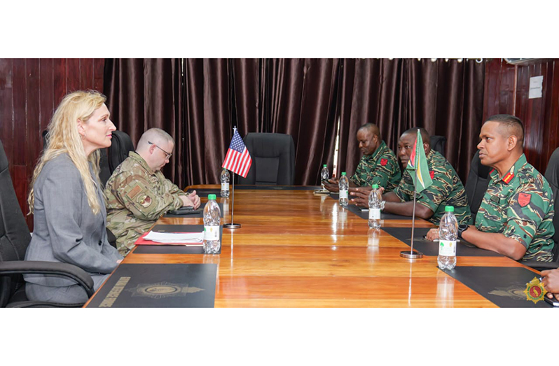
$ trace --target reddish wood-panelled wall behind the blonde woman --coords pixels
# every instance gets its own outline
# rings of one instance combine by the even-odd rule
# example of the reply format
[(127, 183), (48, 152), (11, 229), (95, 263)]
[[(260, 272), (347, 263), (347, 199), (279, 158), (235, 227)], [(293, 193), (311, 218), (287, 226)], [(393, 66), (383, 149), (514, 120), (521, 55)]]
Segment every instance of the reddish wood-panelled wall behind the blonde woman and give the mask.
[[(103, 91), (104, 59), (0, 59), (0, 140), (24, 214), (41, 133), (65, 94)], [(32, 216), (27, 224), (33, 228)]]

